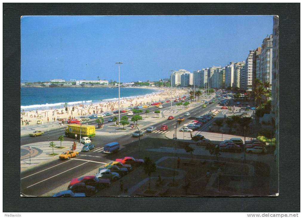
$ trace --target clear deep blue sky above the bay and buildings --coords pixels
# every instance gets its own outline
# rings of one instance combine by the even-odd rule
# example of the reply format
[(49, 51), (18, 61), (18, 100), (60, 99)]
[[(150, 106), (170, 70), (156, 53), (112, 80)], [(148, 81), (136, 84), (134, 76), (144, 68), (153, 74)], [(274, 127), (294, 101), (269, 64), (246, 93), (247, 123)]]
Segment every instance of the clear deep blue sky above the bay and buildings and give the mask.
[(24, 16), (21, 81), (155, 81), (243, 61), (272, 33), (272, 16)]

